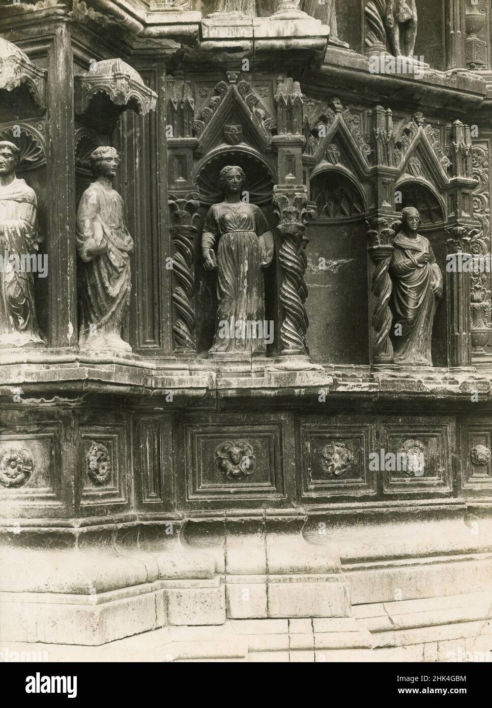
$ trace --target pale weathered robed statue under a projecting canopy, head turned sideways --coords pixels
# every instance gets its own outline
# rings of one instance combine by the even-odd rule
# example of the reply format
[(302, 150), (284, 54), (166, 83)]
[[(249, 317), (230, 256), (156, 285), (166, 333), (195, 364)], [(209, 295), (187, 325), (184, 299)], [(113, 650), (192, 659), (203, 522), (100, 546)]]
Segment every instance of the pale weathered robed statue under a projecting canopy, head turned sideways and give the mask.
[(84, 263), (78, 346), (131, 351), (120, 331), (130, 299), (134, 242), (124, 223), (123, 200), (112, 186), (119, 166), (115, 148), (95, 149), (90, 166), (95, 181), (77, 211), (77, 250)]

